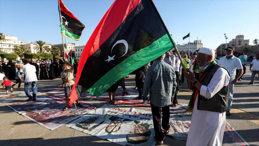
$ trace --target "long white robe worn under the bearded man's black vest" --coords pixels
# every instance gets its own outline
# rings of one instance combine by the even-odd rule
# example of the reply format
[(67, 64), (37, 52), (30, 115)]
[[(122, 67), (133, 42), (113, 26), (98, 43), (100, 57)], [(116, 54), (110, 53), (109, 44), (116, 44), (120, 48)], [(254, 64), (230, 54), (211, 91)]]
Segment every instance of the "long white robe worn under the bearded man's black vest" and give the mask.
[[(206, 66), (207, 67), (207, 66)], [(206, 68), (205, 67), (205, 68)], [(204, 68), (204, 69), (205, 69)], [(212, 98), (223, 86), (227, 86), (230, 76), (225, 69), (219, 68), (208, 86), (202, 85), (200, 95)], [(226, 112), (212, 112), (197, 109), (198, 96), (192, 112), (191, 126), (187, 137), (187, 146), (222, 146)], [(215, 103), (216, 104), (216, 103)]]

